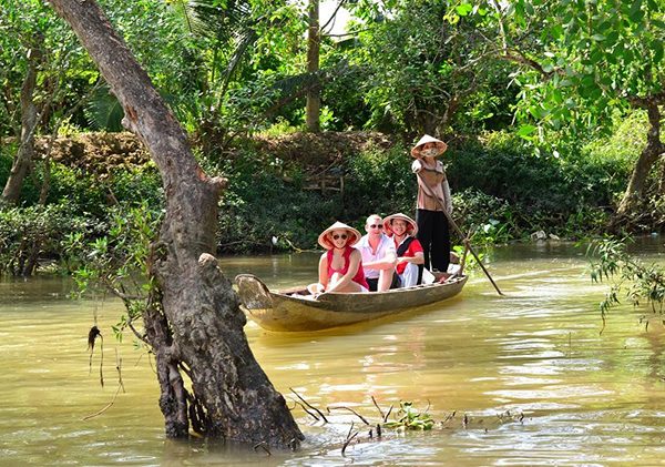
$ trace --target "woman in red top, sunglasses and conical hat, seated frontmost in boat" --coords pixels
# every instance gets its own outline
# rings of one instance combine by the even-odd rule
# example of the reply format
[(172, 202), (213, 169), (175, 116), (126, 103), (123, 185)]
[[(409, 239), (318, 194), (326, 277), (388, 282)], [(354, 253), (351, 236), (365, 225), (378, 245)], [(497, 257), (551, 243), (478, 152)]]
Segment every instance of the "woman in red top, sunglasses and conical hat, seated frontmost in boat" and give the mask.
[(336, 222), (319, 235), (319, 245), (327, 252), (319, 260), (318, 284), (307, 287), (310, 293), (368, 292), (362, 256), (351, 246), (359, 240), (360, 232), (341, 222)]

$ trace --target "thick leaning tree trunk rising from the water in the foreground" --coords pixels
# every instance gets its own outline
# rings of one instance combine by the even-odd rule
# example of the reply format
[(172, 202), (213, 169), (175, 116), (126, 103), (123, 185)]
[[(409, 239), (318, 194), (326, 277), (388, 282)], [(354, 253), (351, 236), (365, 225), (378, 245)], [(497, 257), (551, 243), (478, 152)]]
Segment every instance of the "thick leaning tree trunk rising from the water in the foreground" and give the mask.
[(192, 423), (208, 437), (296, 447), (303, 434), (256, 363), (243, 332), (245, 315), (211, 254), (225, 180), (206, 176), (196, 163), (181, 125), (99, 6), (50, 2), (98, 64), (124, 109), (123, 124), (145, 143), (162, 175), (166, 215), (151, 258), (158, 288), (144, 323), (166, 435), (185, 437)]

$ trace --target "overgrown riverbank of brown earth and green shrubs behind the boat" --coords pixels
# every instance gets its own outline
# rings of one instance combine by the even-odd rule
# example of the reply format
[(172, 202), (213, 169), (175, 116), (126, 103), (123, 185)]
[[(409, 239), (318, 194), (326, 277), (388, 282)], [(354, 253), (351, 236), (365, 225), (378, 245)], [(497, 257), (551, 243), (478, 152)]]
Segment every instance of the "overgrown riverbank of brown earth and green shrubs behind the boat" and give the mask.
[[(43, 154), (45, 141), (37, 146)], [(377, 132), (324, 132), (259, 135), (208, 154), (196, 150), (208, 174), (229, 180), (219, 202), (219, 252), (316, 248), (318, 233), (336, 220), (361, 229), (370, 213), (413, 215), (417, 184), (409, 146)], [(581, 149), (565, 159), (538, 155), (508, 133), (451, 141), (443, 161), (453, 217), (474, 244), (601, 235), (632, 166), (631, 154), (612, 158), (601, 150), (606, 148)], [(12, 154), (11, 144), (3, 146), (0, 183)], [(132, 134), (60, 139), (51, 156), (47, 205), (38, 205), (44, 180), (38, 162), (25, 179), (22, 207), (0, 211), (6, 264), (30, 261), (34, 251), (63, 260), (68, 248), (103, 236), (112, 219), (136, 206), (151, 211), (151, 217), (161, 215), (158, 173)], [(662, 227), (665, 213), (649, 212), (634, 232)]]

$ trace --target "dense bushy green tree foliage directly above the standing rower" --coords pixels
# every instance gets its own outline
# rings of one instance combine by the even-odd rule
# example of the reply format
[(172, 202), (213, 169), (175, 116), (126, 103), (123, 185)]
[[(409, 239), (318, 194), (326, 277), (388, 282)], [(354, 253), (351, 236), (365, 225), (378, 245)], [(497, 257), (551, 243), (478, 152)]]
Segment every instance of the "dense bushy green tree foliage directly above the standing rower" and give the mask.
[(482, 19), (443, 20), (456, 3), (395, 0), (355, 4), (355, 13), (370, 24), (358, 26), (361, 47), (352, 58), (352, 63), (369, 69), (364, 91), (372, 109), (370, 124), (386, 130), (390, 122), (410, 134), (439, 134), (448, 131), (460, 110), (479, 122), (493, 116), (502, 98), (492, 101), (481, 95), (491, 92), (490, 82), (497, 82), (501, 71), (485, 53)]

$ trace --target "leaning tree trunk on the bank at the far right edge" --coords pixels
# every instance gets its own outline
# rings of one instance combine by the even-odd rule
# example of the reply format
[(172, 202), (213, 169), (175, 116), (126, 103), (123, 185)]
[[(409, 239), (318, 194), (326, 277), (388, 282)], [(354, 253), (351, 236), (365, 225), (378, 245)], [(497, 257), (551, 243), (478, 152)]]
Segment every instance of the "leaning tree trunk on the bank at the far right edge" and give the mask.
[(613, 225), (622, 224), (635, 211), (638, 201), (644, 194), (647, 176), (658, 160), (658, 156), (665, 150), (661, 142), (661, 111), (656, 101), (646, 101), (645, 103), (651, 128), (646, 136), (646, 148), (640, 154), (637, 163), (633, 169), (631, 181), (623, 195), (623, 199), (613, 220)]

